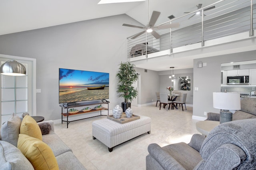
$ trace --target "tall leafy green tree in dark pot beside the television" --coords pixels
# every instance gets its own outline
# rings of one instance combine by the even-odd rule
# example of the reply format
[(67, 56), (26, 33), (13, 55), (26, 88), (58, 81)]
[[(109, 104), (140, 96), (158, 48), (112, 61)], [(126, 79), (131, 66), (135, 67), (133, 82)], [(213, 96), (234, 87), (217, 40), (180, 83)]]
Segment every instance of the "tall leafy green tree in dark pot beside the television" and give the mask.
[(118, 97), (124, 98), (122, 109), (125, 112), (128, 107), (131, 107), (131, 102), (138, 95), (138, 90), (132, 86), (138, 80), (138, 74), (134, 69), (134, 64), (130, 62), (121, 62), (119, 64), (116, 78), (118, 79), (117, 90)]

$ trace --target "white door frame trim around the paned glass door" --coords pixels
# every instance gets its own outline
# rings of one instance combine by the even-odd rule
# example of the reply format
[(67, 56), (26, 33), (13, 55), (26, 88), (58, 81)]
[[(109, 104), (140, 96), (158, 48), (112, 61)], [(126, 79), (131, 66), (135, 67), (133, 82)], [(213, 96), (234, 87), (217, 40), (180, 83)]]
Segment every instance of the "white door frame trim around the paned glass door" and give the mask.
[[(36, 59), (33, 59), (33, 58), (27, 58), (27, 57), (19, 57), (19, 56), (13, 56), (13, 55), (3, 55), (3, 54), (0, 54), (0, 58), (4, 58), (4, 59), (7, 59), (10, 60), (10, 59), (15, 59), (19, 62), (20, 61), (30, 61), (32, 62), (32, 115), (36, 115)], [(1, 116), (0, 116), (0, 122), (1, 122)], [(1, 125), (0, 125), (1, 127)]]

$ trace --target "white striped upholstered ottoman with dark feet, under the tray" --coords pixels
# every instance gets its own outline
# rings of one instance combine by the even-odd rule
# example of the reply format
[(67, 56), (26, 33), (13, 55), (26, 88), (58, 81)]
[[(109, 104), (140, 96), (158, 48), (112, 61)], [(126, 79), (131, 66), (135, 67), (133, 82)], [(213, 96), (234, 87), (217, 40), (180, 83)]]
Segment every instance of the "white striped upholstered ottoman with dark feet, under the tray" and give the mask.
[(143, 133), (150, 134), (150, 130), (150, 117), (140, 116), (140, 119), (124, 124), (106, 118), (92, 122), (92, 139), (98, 139), (108, 147), (109, 152), (112, 152), (114, 146)]

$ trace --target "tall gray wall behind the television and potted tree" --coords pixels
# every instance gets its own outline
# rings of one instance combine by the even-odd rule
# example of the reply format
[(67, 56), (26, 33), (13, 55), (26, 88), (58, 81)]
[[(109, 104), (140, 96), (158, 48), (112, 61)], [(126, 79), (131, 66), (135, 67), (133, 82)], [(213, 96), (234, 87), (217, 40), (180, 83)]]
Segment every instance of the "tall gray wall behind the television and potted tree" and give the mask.
[(116, 97), (118, 64), (127, 61), (126, 37), (140, 29), (122, 26), (139, 25), (127, 15), (58, 25), (0, 36), (0, 54), (37, 60), (37, 115), (45, 120), (60, 119), (58, 104), (58, 68), (110, 73), (110, 109), (123, 99)]

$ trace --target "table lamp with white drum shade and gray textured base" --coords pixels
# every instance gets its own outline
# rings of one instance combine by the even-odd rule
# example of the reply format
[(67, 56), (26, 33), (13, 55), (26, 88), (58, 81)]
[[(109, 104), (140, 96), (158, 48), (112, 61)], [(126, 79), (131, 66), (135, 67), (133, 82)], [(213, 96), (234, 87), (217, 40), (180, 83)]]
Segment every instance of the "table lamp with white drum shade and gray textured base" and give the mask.
[(240, 110), (240, 93), (213, 92), (213, 107), (220, 110), (220, 124), (232, 121), (233, 114), (229, 110)]

